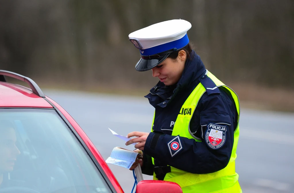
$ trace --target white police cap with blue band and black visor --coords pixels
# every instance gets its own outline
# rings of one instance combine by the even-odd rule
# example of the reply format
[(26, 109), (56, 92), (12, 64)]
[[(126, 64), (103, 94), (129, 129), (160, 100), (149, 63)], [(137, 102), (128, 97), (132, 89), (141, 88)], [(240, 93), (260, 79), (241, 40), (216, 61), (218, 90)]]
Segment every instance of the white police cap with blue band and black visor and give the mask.
[(153, 24), (129, 34), (129, 40), (140, 50), (137, 71), (147, 71), (163, 62), (170, 53), (189, 43), (187, 31), (191, 23), (174, 19)]

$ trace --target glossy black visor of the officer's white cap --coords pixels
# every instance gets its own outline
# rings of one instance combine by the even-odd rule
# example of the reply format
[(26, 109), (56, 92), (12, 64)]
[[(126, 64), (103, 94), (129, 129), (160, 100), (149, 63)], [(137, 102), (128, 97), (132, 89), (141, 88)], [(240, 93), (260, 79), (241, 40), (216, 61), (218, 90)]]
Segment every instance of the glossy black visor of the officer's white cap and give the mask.
[(164, 55), (164, 56), (158, 56), (158, 57), (153, 57), (154, 59), (148, 59), (152, 58), (149, 56), (141, 56), (141, 59), (138, 61), (136, 64), (136, 70), (137, 71), (148, 71), (158, 64), (162, 63), (169, 55), (170, 53)]

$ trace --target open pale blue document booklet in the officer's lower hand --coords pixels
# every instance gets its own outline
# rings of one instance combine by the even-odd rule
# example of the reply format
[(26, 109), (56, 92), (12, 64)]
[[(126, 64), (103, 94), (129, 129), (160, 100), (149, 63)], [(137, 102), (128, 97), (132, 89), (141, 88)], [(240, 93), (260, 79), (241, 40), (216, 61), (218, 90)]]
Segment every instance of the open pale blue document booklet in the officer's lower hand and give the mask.
[(135, 163), (138, 155), (141, 157), (141, 154), (137, 152), (126, 150), (121, 147), (114, 147), (106, 163), (130, 169), (133, 163)]

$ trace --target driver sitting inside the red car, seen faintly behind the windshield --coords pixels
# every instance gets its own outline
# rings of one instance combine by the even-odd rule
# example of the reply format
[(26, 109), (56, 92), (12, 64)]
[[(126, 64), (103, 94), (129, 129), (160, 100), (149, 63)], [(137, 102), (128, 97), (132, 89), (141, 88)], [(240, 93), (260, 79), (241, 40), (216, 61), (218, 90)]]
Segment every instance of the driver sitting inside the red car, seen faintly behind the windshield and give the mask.
[(15, 145), (16, 133), (14, 126), (7, 120), (0, 120), (0, 189), (18, 184), (10, 180), (10, 172), (20, 154)]

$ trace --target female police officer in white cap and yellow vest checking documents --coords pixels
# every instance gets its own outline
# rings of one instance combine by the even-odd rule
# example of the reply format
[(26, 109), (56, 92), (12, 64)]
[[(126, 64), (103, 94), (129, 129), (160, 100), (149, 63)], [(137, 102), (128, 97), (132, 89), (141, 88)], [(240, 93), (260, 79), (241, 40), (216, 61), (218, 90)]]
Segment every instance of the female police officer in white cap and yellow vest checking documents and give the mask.
[[(170, 20), (129, 35), (140, 50), (137, 71), (159, 82), (148, 95), (155, 108), (150, 133), (131, 132), (144, 174), (178, 183), (183, 192), (242, 192), (235, 172), (239, 100), (206, 70), (191, 49), (185, 20)], [(143, 151), (140, 151), (143, 150)]]

